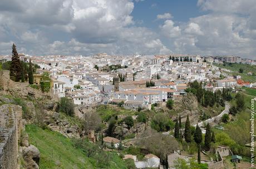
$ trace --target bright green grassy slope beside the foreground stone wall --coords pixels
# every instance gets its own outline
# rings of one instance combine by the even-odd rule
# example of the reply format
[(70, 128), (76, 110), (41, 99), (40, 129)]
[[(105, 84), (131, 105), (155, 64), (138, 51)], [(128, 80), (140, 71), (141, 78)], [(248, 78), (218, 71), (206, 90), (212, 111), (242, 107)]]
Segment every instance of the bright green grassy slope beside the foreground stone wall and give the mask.
[[(41, 153), (40, 168), (97, 168), (96, 160), (75, 148), (70, 138), (58, 132), (42, 130), (36, 125), (27, 125), (29, 143)], [(127, 168), (125, 162), (116, 154), (109, 152), (110, 165), (106, 168)]]

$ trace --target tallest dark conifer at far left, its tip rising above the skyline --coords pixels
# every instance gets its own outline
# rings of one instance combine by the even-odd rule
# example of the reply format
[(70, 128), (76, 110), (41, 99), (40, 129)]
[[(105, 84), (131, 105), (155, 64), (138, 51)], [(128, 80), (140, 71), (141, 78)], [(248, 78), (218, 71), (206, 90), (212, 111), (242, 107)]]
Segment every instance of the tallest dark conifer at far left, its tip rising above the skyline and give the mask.
[(13, 45), (12, 45), (12, 62), (11, 62), (11, 66), (10, 66), (10, 77), (14, 81), (18, 82), (21, 80), (21, 74), (22, 74), (21, 61), (19, 60), (16, 46), (13, 43)]

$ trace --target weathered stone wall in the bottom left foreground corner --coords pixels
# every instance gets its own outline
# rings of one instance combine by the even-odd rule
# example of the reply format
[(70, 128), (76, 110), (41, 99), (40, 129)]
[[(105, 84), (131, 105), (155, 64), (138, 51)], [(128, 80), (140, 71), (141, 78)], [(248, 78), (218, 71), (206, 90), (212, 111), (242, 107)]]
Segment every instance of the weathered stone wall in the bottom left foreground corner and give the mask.
[(18, 138), (22, 128), (22, 108), (0, 106), (0, 168), (18, 168)]

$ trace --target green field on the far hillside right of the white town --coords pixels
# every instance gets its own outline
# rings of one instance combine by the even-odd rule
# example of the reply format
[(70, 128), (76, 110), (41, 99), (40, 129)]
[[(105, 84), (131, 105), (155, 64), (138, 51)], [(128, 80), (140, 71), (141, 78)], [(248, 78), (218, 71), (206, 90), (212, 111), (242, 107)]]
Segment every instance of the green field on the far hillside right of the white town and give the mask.
[[(231, 74), (232, 76), (238, 76), (240, 75), (244, 81), (249, 81), (249, 82), (256, 82), (256, 66), (252, 66), (249, 64), (239, 64), (239, 63), (225, 63), (224, 64), (216, 64), (214, 63), (215, 66), (220, 67), (220, 68), (225, 68), (233, 71), (232, 73), (230, 72), (225, 72), (228, 74)], [(239, 72), (239, 69), (243, 69), (243, 73)], [(248, 72), (252, 72), (253, 76), (247, 75)]]

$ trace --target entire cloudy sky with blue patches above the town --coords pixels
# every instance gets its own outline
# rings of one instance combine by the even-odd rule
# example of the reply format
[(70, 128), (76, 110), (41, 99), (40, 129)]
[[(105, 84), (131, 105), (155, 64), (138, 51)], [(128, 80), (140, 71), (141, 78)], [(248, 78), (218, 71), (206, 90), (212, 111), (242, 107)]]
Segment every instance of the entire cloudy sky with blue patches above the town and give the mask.
[(256, 59), (255, 0), (1, 0), (0, 54)]

